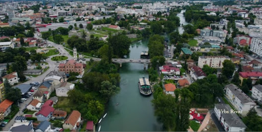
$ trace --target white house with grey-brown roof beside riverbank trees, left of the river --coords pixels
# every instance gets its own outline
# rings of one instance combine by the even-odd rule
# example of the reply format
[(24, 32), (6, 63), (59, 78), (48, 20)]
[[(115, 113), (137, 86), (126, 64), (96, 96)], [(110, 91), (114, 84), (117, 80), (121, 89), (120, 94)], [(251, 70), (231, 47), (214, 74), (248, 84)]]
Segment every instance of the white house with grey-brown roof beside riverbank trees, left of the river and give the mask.
[(68, 97), (68, 91), (73, 90), (75, 88), (75, 84), (63, 82), (58, 84), (55, 88), (56, 96), (58, 97)]

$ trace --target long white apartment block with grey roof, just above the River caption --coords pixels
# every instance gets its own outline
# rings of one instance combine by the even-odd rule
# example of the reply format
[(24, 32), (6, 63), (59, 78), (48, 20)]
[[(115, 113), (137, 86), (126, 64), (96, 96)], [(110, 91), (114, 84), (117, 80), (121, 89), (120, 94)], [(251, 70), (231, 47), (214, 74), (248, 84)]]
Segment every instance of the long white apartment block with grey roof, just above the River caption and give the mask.
[(241, 89), (233, 84), (225, 86), (226, 97), (239, 114), (246, 115), (251, 108), (256, 109), (256, 103), (248, 97)]

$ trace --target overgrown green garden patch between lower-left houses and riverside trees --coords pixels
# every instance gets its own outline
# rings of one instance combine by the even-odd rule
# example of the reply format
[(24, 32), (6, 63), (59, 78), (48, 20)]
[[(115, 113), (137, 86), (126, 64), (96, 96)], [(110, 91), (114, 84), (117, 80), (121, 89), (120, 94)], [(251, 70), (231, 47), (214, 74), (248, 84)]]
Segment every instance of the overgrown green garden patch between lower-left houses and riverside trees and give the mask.
[(71, 113), (73, 110), (76, 110), (74, 104), (71, 104), (70, 98), (68, 97), (58, 97), (58, 101), (54, 105), (54, 108), (66, 111), (67, 113)]

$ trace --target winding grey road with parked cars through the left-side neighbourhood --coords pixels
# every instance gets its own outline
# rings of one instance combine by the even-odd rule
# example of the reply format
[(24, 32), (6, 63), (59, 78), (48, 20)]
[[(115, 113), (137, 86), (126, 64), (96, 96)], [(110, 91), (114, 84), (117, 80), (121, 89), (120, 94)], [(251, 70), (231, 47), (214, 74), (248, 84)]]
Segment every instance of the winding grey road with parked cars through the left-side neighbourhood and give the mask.
[[(37, 39), (42, 39), (42, 38), (38, 37), (36, 33), (35, 33), (35, 38), (37, 38)], [(63, 47), (62, 45), (56, 44), (56, 43), (51, 42), (51, 41), (48, 41), (48, 40), (47, 40), (47, 42), (50, 43), (50, 44), (51, 44), (52, 46), (54, 46), (55, 48), (57, 48), (61, 54), (60, 54), (60, 55), (58, 54), (58, 55), (50, 56), (48, 59), (46, 59), (46, 62), (47, 62), (48, 65), (49, 65), (49, 69), (48, 69), (45, 73), (42, 73), (41, 75), (38, 75), (37, 77), (30, 78), (30, 80), (27, 81), (27, 82), (25, 82), (24, 84), (30, 84), (30, 83), (32, 83), (32, 82), (42, 82), (42, 81), (43, 81), (43, 78), (45, 78), (48, 73), (50, 73), (50, 72), (53, 71), (53, 70), (58, 69), (57, 66), (59, 65), (59, 63), (57, 63), (57, 62), (55, 62), (55, 61), (52, 61), (52, 60), (51, 60), (52, 57), (63, 55), (63, 56), (67, 56), (68, 59), (73, 59), (73, 57), (70, 56), (70, 54), (67, 52), (67, 50), (64, 49), (64, 47)], [(37, 87), (37, 88), (38, 88), (38, 87)], [(27, 106), (27, 104), (29, 104), (30, 101), (32, 101), (33, 95), (35, 94), (36, 91), (37, 91), (37, 90), (35, 90), (35, 91), (33, 92), (32, 96), (30, 96), (29, 98), (27, 98), (27, 101), (24, 101), (23, 103), (19, 103), (19, 108), (20, 108), (20, 110), (19, 110), (19, 112), (14, 116), (14, 118), (15, 118), (16, 116), (20, 116), (20, 115), (23, 115), (23, 114), (24, 114), (24, 113), (22, 112), (23, 109), (25, 109), (26, 106)], [(9, 131), (8, 129), (9, 129), (9, 128), (13, 125), (13, 123), (14, 123), (14, 118), (13, 118), (12, 120), (10, 120), (10, 121), (6, 124), (5, 127), (3, 127), (3, 131)]]

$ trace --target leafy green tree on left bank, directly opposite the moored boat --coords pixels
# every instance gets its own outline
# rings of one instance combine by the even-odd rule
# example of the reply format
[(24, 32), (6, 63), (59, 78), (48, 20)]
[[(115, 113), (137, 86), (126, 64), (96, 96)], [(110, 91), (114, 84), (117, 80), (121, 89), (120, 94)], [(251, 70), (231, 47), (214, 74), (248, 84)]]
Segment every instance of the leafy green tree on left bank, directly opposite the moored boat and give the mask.
[(99, 92), (106, 98), (106, 100), (108, 100), (119, 91), (119, 87), (113, 85), (109, 81), (104, 81), (101, 83), (101, 90)]

